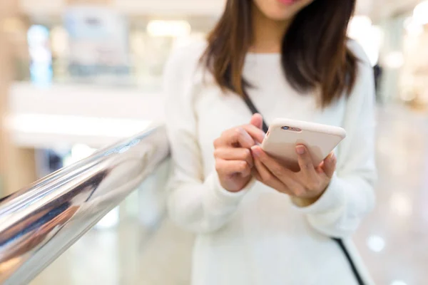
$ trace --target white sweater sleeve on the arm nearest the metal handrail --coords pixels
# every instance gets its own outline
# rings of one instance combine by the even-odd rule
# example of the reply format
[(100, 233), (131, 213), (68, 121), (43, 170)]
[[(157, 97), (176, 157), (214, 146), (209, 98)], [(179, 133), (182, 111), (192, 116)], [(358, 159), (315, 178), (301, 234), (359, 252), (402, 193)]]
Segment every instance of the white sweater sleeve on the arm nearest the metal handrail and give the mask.
[[(228, 192), (216, 172), (205, 177), (194, 110), (196, 67), (200, 48), (178, 50), (170, 56), (164, 74), (165, 119), (172, 155), (168, 212), (181, 227), (197, 233), (223, 227), (247, 190)], [(250, 185), (248, 185), (250, 187)]]

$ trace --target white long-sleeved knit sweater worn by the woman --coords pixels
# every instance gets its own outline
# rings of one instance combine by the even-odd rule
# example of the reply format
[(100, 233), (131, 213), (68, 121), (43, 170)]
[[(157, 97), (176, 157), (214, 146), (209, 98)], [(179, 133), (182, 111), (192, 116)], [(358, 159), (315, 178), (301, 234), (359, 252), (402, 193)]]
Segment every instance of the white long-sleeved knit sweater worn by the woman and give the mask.
[[(214, 169), (213, 140), (223, 130), (249, 123), (242, 98), (223, 94), (198, 60), (205, 43), (173, 53), (165, 69), (166, 123), (174, 175), (170, 217), (198, 236), (193, 249), (193, 285), (357, 284), (345, 255), (330, 237), (345, 238), (367, 284), (350, 235), (374, 207), (374, 87), (362, 48), (352, 94), (324, 110), (314, 94), (291, 88), (279, 54), (248, 54), (245, 79), (250, 98), (267, 123), (275, 118), (307, 120), (345, 128), (337, 147), (337, 171), (322, 197), (299, 208), (290, 197), (250, 183), (224, 190)], [(205, 74), (205, 78), (203, 78)], [(171, 237), (173, 238), (173, 237)]]

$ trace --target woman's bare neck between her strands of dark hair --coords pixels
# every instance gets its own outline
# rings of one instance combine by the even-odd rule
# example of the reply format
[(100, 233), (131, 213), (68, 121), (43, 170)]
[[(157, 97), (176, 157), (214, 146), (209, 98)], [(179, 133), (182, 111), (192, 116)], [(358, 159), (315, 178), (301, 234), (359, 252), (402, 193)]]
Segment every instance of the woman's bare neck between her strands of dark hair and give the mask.
[(290, 21), (275, 21), (263, 14), (253, 4), (253, 43), (251, 53), (280, 53), (282, 38), (290, 26)]

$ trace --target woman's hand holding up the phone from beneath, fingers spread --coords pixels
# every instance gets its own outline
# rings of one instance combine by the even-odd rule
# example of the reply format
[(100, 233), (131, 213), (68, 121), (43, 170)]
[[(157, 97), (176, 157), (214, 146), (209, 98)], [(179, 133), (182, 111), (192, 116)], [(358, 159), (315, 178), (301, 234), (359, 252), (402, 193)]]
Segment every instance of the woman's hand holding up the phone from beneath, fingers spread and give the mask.
[(290, 195), (292, 201), (300, 207), (307, 207), (321, 197), (336, 169), (336, 157), (333, 152), (315, 167), (304, 145), (296, 146), (299, 172), (288, 169), (280, 161), (267, 155), (259, 146), (252, 147), (251, 150), (255, 178), (278, 192)]

